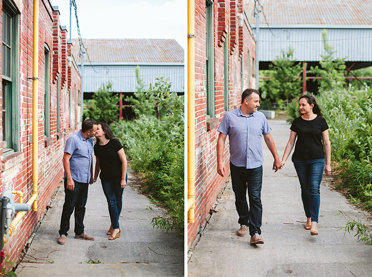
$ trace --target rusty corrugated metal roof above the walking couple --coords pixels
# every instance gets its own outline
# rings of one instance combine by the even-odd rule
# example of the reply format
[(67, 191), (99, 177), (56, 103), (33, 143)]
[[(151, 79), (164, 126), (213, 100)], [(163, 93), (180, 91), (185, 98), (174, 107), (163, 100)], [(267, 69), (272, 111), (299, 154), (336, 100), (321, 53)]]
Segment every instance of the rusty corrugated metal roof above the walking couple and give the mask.
[[(254, 28), (254, 0), (243, 1)], [(260, 0), (259, 3), (269, 25), (372, 25), (369, 0)], [(259, 19), (260, 25), (267, 25), (262, 13)]]

